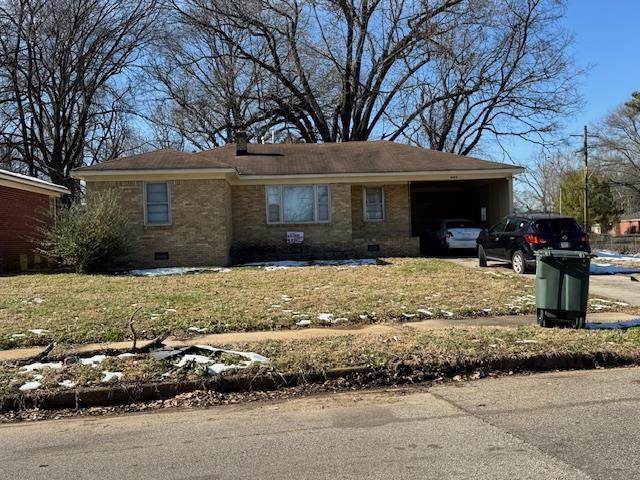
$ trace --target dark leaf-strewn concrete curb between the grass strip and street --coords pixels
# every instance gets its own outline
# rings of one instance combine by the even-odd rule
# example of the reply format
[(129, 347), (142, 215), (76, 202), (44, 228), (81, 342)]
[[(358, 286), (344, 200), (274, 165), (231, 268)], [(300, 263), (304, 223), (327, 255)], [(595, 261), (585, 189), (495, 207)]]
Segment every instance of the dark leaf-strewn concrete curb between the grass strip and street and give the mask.
[(306, 373), (270, 372), (257, 376), (230, 375), (202, 381), (158, 382), (111, 387), (87, 387), (68, 391), (51, 391), (8, 395), (0, 399), (0, 412), (39, 408), (42, 410), (78, 409), (125, 405), (128, 403), (172, 398), (195, 390), (220, 393), (270, 391), (279, 388), (347, 379), (353, 384), (384, 386), (419, 383), (436, 378), (451, 378), (473, 372), (543, 372), (550, 370), (589, 370), (640, 365), (640, 356), (608, 352), (592, 354), (533, 355), (502, 357), (454, 363), (408, 365), (398, 363), (386, 367), (348, 367)]

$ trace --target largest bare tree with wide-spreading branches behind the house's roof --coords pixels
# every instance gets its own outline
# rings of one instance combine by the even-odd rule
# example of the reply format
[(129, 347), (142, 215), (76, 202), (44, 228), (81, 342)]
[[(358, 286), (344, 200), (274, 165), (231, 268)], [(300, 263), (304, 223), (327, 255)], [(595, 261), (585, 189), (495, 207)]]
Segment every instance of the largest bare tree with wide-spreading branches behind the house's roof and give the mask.
[(199, 51), (200, 59), (253, 66), (262, 82), (245, 95), (260, 100), (260, 120), (308, 142), (402, 136), (466, 154), (487, 134), (539, 140), (577, 104), (577, 73), (566, 56), (571, 38), (560, 26), (564, 3), (174, 0), (173, 6), (193, 32), (224, 46)]

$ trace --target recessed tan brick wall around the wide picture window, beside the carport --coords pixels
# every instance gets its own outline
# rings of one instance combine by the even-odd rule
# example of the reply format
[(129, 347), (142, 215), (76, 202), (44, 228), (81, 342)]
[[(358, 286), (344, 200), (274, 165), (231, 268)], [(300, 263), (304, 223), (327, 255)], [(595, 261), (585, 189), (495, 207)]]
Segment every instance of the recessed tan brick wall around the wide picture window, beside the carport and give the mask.
[[(232, 186), (233, 260), (419, 254), (419, 240), (410, 236), (408, 185), (385, 186), (385, 221), (377, 223), (363, 221), (360, 185), (332, 184), (330, 189), (329, 224), (269, 225), (264, 185)], [(304, 243), (288, 245), (289, 231), (303, 232)]]

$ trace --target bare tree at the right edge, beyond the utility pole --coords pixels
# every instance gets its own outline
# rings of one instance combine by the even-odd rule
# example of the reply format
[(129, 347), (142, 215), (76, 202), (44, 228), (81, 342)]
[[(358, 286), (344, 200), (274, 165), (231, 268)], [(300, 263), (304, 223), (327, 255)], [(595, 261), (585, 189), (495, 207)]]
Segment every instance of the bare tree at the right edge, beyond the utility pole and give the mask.
[(640, 92), (596, 128), (594, 163), (627, 213), (640, 210)]

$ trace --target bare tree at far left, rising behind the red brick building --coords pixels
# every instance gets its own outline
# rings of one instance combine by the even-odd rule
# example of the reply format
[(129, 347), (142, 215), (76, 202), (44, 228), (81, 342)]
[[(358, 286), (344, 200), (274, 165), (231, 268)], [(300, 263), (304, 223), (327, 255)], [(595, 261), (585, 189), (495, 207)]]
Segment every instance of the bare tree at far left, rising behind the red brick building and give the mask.
[[(114, 147), (114, 131), (124, 128), (126, 74), (152, 38), (158, 1), (0, 2), (0, 106), (11, 119), (2, 143), (30, 173), (76, 195), (71, 170), (104, 159), (95, 150), (109, 137)], [(107, 156), (121, 151), (116, 143)]]

